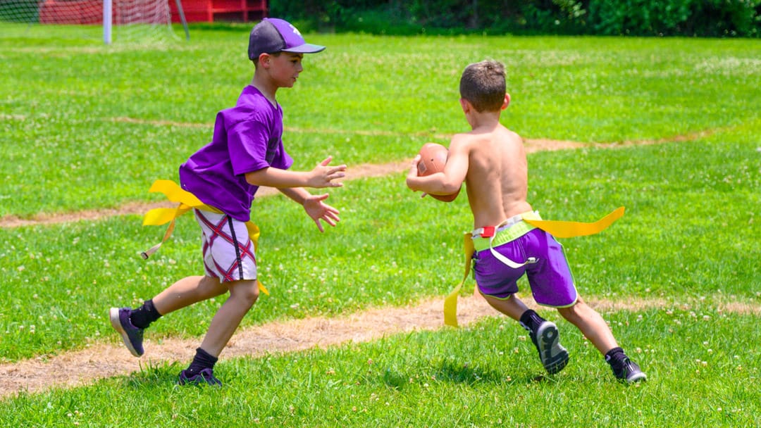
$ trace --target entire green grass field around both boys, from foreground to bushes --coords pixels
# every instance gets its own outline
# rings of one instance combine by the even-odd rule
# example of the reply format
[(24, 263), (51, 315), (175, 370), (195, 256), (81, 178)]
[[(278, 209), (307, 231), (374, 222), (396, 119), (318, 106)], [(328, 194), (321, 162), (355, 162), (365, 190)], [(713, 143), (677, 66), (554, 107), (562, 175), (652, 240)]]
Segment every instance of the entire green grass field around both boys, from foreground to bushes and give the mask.
[[(189, 42), (103, 46), (3, 25), (0, 218), (160, 201), (148, 186), (177, 179), (253, 74), (244, 26), (198, 28)], [(400, 161), (425, 141), (446, 144), (467, 127), (460, 71), (485, 58), (508, 68), (508, 128), (590, 144), (530, 154), (530, 202), (543, 217), (581, 221), (626, 206), (605, 233), (562, 243), (582, 296), (627, 308), (603, 317), (648, 382), (615, 382), (549, 310), (572, 363), (543, 376), (524, 331), (495, 312), (466, 328), (326, 350), (222, 353), (221, 389), (177, 388), (186, 364), (177, 361), (22, 392), (0, 398), (0, 426), (761, 426), (759, 41), (306, 38), (328, 49), (307, 55), (296, 87), (278, 94), (295, 168), (328, 154), (349, 167)], [(401, 173), (330, 194), (342, 222), (325, 234), (282, 196), (254, 202), (260, 276), (272, 295), (242, 328), (415, 305), (461, 276), (466, 198), (420, 200)], [(192, 219), (180, 219), (148, 262), (138, 253), (163, 229), (140, 220), (0, 228), (4, 368), (118, 344), (109, 306), (135, 305), (199, 273)], [(472, 291), (469, 281), (463, 294)], [(148, 336), (200, 341), (221, 302), (167, 315)]]

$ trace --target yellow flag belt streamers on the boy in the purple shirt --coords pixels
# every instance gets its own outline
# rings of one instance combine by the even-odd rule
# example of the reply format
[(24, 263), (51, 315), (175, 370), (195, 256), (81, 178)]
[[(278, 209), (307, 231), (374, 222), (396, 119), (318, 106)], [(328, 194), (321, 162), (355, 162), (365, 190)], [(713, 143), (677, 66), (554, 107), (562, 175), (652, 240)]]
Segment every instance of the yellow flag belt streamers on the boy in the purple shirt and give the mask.
[[(144, 259), (147, 259), (154, 252), (157, 252), (158, 249), (161, 248), (161, 244), (172, 236), (172, 232), (174, 232), (174, 223), (175, 220), (177, 220), (177, 217), (180, 217), (193, 208), (222, 214), (222, 211), (219, 211), (218, 208), (204, 204), (199, 198), (196, 198), (196, 195), (183, 190), (180, 185), (177, 185), (177, 183), (172, 180), (156, 180), (151, 185), (151, 189), (148, 189), (148, 192), (163, 193), (167, 199), (172, 202), (177, 202), (178, 205), (177, 208), (154, 208), (145, 213), (145, 216), (143, 217), (143, 226), (161, 226), (162, 224), (169, 223), (169, 227), (167, 227), (167, 231), (164, 233), (164, 238), (161, 239), (161, 243), (140, 253)], [(248, 236), (251, 241), (253, 241), (253, 251), (256, 252), (259, 249), (259, 227), (257, 227), (253, 221), (248, 220), (246, 222), (246, 229), (248, 230)], [(263, 293), (269, 295), (269, 291), (267, 291), (258, 279), (256, 280), (256, 284), (259, 285), (259, 289), (262, 290)]]

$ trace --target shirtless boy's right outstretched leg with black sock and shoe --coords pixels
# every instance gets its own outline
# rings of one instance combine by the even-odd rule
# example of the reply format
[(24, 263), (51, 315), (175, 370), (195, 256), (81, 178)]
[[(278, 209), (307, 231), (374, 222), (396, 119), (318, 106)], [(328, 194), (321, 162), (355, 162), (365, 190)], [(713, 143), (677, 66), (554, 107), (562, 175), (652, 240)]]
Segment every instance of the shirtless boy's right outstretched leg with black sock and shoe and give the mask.
[(610, 327), (603, 317), (587, 306), (581, 297), (578, 297), (574, 306), (559, 308), (558, 312), (568, 322), (575, 325), (584, 334), (584, 337), (591, 341), (594, 347), (605, 356), (605, 360), (610, 364), (613, 374), (618, 379), (626, 380), (626, 382), (647, 379), (637, 363), (629, 360), (626, 353), (619, 347), (616, 338), (613, 337), (613, 332), (610, 331)]

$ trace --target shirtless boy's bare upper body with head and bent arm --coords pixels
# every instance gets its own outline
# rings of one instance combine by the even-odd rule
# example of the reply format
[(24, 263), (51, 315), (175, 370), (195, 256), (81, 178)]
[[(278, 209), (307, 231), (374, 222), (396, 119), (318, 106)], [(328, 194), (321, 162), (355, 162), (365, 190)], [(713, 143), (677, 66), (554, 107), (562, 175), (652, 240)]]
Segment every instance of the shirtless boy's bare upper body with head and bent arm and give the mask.
[(472, 131), (454, 135), (442, 173), (418, 177), (416, 157), (407, 175), (409, 189), (450, 195), (465, 182), (474, 229), (531, 211), (523, 141), (499, 122), (509, 104), (504, 65), (484, 61), (466, 67), (460, 78), (460, 106)]

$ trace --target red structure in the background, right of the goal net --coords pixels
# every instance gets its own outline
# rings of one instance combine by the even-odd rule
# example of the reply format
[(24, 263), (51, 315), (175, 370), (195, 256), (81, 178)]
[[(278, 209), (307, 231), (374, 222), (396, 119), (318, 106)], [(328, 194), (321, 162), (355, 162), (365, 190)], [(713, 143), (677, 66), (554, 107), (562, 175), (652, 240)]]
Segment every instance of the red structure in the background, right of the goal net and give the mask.
[[(176, 0), (168, 0), (172, 22), (180, 22)], [(181, 0), (185, 21), (259, 21), (267, 16), (267, 0)]]

